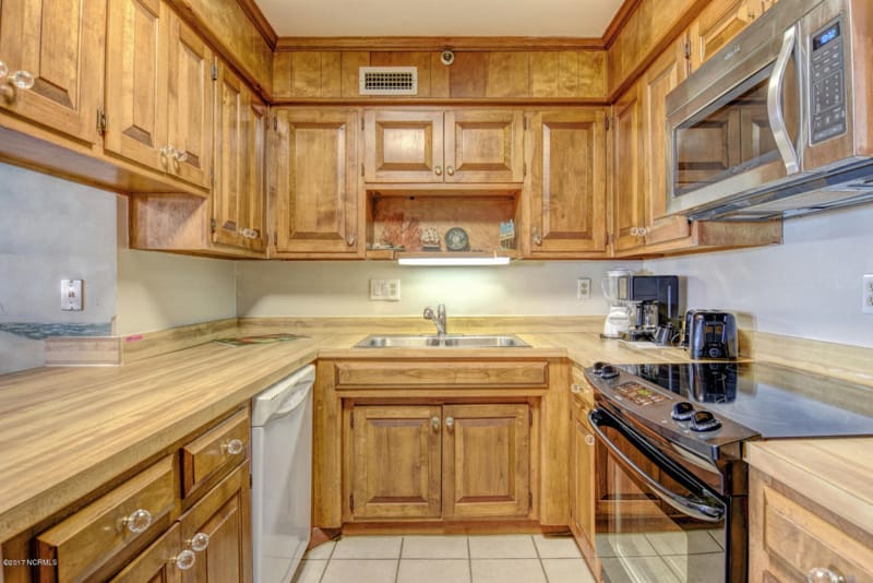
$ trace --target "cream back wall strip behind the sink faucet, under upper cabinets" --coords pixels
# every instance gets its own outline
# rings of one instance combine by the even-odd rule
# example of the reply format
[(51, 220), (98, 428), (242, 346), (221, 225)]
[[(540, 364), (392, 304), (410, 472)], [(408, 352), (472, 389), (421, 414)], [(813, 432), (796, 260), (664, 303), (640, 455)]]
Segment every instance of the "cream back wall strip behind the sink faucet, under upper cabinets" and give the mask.
[[(420, 316), (446, 305), (450, 316), (601, 314), (600, 278), (613, 265), (642, 262), (518, 261), (492, 267), (416, 267), (388, 261), (240, 262), (237, 313), (283, 316)], [(576, 299), (589, 277), (593, 298)], [(400, 279), (400, 301), (370, 301), (370, 278)]]

